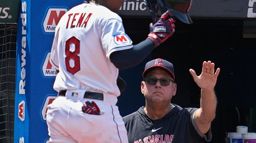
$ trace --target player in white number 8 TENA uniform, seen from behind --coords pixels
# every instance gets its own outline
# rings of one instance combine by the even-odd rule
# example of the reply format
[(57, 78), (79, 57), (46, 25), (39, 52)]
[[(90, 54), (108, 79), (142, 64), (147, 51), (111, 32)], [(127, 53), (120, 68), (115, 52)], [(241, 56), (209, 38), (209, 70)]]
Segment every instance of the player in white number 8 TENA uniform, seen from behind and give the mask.
[(92, 0), (60, 19), (50, 56), (59, 70), (53, 86), (58, 97), (47, 110), (52, 143), (128, 143), (116, 106), (118, 71), (139, 64), (172, 36), (175, 20), (167, 11), (150, 25), (148, 37), (133, 45), (116, 14), (122, 3)]

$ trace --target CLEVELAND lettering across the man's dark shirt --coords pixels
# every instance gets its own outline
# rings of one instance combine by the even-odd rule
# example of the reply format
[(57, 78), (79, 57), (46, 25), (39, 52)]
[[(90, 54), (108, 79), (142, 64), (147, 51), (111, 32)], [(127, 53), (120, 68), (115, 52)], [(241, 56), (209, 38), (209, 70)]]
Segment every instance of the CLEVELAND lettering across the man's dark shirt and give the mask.
[(133, 143), (172, 143), (174, 135), (151, 135)]

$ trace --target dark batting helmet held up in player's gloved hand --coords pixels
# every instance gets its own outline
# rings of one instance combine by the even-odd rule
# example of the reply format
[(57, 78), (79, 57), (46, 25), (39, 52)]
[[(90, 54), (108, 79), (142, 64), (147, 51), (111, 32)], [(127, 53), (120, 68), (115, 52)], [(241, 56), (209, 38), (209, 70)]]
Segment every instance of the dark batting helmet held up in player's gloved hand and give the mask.
[(171, 9), (172, 15), (186, 24), (192, 24), (188, 15), (192, 0), (144, 0), (149, 8), (153, 22), (157, 22), (163, 13)]

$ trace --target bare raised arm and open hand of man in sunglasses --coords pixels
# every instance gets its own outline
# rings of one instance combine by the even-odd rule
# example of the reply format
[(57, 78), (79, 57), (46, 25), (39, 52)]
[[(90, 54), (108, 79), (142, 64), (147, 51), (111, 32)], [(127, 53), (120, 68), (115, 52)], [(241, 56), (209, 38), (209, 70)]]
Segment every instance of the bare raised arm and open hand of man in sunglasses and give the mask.
[(195, 113), (195, 122), (203, 134), (208, 132), (211, 121), (215, 118), (217, 100), (214, 87), (220, 73), (220, 68), (217, 68), (214, 73), (214, 65), (211, 61), (204, 61), (202, 73), (199, 76), (196, 75), (193, 69), (189, 70), (194, 81), (201, 88), (201, 107)]

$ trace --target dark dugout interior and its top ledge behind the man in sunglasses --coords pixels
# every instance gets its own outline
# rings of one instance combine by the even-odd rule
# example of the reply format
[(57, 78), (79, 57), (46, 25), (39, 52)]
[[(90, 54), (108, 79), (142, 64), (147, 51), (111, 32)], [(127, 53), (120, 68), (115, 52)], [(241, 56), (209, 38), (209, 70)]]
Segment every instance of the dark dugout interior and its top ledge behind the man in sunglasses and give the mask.
[[(143, 63), (120, 71), (127, 83), (127, 89), (118, 101), (121, 115), (145, 105), (140, 91), (142, 72), (146, 62), (155, 58), (166, 59), (174, 65), (177, 93), (172, 103), (181, 107), (200, 107), (200, 88), (189, 69), (194, 69), (199, 75), (202, 62), (211, 60), (216, 68), (221, 69), (215, 86), (218, 105), (212, 122), (211, 143), (227, 142), (227, 133), (236, 132), (239, 125), (248, 126), (248, 132), (256, 132), (254, 2), (193, 1), (189, 12), (193, 24), (177, 20), (174, 35), (155, 48)], [(129, 10), (132, 16), (129, 15), (127, 5), (128, 1), (123, 8), (126, 12), (121, 9), (119, 14), (126, 33), (137, 44), (146, 38), (152, 20), (147, 14), (131, 12), (132, 5)]]

